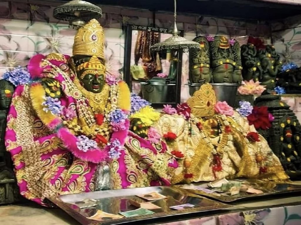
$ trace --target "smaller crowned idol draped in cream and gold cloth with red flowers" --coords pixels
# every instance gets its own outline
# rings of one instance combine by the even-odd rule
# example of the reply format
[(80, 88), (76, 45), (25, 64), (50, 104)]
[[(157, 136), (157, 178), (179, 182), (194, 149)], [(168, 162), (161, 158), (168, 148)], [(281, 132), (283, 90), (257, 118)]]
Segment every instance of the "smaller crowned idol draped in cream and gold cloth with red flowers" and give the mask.
[[(170, 107), (165, 109), (174, 113)], [(217, 102), (210, 84), (203, 84), (177, 114), (162, 114), (154, 124), (166, 134), (178, 167), (173, 184), (221, 178), (285, 180), (279, 159), (247, 119), (225, 102)], [(254, 136), (254, 137), (253, 137)]]

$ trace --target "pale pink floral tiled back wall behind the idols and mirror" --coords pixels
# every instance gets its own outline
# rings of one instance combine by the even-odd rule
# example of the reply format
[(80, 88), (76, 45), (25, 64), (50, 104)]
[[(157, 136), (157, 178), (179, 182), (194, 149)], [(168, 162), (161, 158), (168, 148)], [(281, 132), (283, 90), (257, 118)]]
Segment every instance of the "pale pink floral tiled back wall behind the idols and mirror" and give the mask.
[[(1, 1), (0, 2), (0, 74), (8, 67), (25, 65), (28, 59), (39, 53), (61, 52), (72, 54), (75, 31), (52, 17), (53, 8), (61, 3), (51, 1)], [(105, 56), (107, 68), (112, 73), (122, 75), (124, 57), (125, 24), (153, 26), (153, 14), (145, 10), (101, 6), (104, 16), (100, 19), (105, 28)], [(157, 13), (155, 25), (171, 28), (172, 14)], [(49, 21), (49, 23), (48, 23)], [(248, 35), (270, 40), (270, 28), (265, 23), (248, 23), (203, 17), (179, 15), (178, 29), (184, 30), (185, 38), (192, 40), (196, 35), (225, 35), (236, 38), (240, 44), (247, 41)], [(188, 55), (183, 56), (182, 101), (189, 98)]]

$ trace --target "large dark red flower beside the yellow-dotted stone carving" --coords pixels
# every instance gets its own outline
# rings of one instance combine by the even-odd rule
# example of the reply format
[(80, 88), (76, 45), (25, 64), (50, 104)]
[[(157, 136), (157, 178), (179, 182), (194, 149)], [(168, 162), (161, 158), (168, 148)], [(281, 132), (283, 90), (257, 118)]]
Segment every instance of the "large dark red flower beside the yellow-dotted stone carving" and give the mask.
[(272, 127), (272, 124), (269, 120), (268, 107), (255, 106), (252, 110), (252, 113), (247, 116), (249, 125), (254, 125), (255, 129), (267, 130)]

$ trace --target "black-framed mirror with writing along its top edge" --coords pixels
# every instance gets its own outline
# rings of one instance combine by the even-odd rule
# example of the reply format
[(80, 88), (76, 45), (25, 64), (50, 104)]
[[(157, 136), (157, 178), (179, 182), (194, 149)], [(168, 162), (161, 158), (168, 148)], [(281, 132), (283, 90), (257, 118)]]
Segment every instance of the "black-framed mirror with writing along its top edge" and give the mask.
[[(184, 32), (179, 35), (183, 36)], [(154, 108), (176, 106), (181, 99), (182, 52), (152, 52), (150, 47), (172, 36), (172, 30), (127, 25), (124, 80), (131, 92)]]

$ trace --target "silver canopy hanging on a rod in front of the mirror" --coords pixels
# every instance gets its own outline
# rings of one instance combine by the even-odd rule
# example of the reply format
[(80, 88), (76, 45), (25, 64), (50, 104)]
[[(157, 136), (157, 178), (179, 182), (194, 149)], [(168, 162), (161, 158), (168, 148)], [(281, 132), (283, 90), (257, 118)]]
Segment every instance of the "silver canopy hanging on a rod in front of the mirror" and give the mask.
[(175, 4), (175, 11), (174, 11), (174, 28), (173, 28), (173, 34), (172, 37), (167, 38), (165, 41), (154, 44), (151, 46), (152, 51), (170, 51), (170, 50), (179, 50), (182, 49), (183, 51), (188, 51), (189, 49), (199, 49), (200, 44), (195, 41), (188, 41), (186, 38), (183, 38), (181, 36), (178, 36), (178, 28), (176, 24), (176, 18), (177, 18), (177, 4), (176, 0), (174, 0)]

